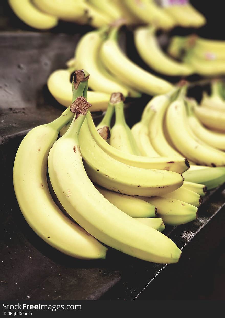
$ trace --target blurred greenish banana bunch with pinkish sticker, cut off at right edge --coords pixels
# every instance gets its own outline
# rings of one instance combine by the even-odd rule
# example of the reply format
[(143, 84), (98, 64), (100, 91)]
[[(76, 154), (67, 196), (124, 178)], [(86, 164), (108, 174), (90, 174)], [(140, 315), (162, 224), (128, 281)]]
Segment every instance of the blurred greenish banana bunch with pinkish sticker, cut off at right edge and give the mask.
[(174, 36), (168, 52), (174, 58), (182, 59), (202, 76), (225, 74), (225, 42), (209, 40), (196, 35)]

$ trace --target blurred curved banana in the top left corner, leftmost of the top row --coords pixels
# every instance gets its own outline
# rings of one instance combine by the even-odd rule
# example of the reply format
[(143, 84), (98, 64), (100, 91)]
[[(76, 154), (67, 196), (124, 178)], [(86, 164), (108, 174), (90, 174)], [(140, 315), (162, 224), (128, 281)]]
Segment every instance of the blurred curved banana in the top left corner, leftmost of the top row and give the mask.
[(8, 0), (13, 12), (24, 23), (36, 29), (51, 29), (58, 24), (58, 18), (38, 10), (31, 0)]

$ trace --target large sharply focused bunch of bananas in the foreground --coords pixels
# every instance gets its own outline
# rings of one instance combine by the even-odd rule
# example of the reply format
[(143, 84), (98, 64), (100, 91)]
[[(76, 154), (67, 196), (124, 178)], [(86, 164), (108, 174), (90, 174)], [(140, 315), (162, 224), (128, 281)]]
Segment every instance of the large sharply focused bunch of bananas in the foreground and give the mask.
[[(42, 239), (70, 256), (105, 258), (107, 245), (151, 262), (177, 262), (180, 249), (160, 232), (168, 193), (174, 198), (174, 215), (165, 216), (167, 224), (173, 218), (174, 224), (196, 218), (200, 195), (194, 198), (182, 188), (181, 173), (188, 162), (181, 156), (147, 158), (113, 148), (93, 124), (86, 100), (88, 79), (85, 70), (76, 71), (70, 107), (51, 123), (32, 129), (21, 142), (13, 167), (20, 209)], [(101, 128), (114, 108), (120, 108), (122, 116), (122, 94), (112, 94), (110, 105)], [(131, 136), (125, 129), (123, 133)], [(116, 134), (113, 128), (111, 132)], [(196, 207), (177, 200), (177, 189), (190, 194), (188, 202)], [(159, 218), (152, 196), (160, 200)]]

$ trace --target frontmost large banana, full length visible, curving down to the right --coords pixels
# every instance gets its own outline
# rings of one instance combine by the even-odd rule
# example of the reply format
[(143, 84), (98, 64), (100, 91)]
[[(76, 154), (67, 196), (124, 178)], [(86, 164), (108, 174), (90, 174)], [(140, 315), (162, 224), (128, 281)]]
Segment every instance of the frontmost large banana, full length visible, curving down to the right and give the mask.
[(91, 105), (80, 97), (72, 106), (75, 120), (48, 156), (51, 184), (67, 213), (96, 239), (121, 252), (156, 263), (178, 262), (181, 251), (167, 236), (113, 206), (91, 183), (78, 141)]

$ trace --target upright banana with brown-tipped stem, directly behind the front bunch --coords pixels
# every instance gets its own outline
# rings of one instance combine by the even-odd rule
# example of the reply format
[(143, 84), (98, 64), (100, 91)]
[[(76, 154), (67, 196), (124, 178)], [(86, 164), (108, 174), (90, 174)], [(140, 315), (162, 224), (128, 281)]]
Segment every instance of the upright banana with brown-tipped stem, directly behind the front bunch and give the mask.
[(126, 124), (124, 116), (124, 96), (121, 93), (113, 93), (110, 103), (115, 108), (116, 119), (111, 129), (110, 145), (113, 148), (128, 154), (139, 155), (138, 146), (132, 132)]

